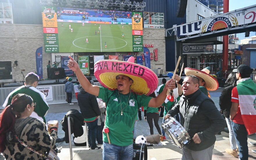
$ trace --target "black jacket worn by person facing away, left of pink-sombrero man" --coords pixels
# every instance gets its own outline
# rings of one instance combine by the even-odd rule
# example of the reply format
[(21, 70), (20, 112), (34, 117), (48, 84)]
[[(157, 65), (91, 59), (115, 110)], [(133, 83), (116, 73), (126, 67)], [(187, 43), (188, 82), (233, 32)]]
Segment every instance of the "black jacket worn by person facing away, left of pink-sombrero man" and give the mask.
[(101, 112), (95, 95), (81, 89), (77, 95), (77, 100), (84, 118), (92, 118), (100, 115)]

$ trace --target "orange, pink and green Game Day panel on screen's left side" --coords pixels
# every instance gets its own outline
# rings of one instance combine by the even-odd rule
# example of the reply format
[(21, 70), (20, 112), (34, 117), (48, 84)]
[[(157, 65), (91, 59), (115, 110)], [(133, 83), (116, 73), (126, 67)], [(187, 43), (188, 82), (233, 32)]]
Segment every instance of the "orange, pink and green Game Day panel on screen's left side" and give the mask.
[(59, 52), (56, 7), (42, 6), (45, 53)]

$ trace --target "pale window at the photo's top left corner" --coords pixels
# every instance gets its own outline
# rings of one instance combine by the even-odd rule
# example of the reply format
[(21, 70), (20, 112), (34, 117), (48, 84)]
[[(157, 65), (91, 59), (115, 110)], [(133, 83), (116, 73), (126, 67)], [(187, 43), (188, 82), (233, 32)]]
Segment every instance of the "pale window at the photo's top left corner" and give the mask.
[(12, 3), (0, 2), (0, 23), (13, 24)]

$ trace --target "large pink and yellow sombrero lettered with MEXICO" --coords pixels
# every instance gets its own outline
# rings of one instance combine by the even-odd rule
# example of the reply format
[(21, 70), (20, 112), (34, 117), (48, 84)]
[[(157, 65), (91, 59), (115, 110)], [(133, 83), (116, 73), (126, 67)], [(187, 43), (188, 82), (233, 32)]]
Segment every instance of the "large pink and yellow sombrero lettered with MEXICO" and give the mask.
[(150, 95), (157, 88), (157, 75), (149, 68), (134, 63), (133, 56), (128, 61), (100, 60), (94, 65), (96, 79), (109, 89), (117, 88), (115, 77), (120, 74), (133, 80), (131, 90), (136, 93)]

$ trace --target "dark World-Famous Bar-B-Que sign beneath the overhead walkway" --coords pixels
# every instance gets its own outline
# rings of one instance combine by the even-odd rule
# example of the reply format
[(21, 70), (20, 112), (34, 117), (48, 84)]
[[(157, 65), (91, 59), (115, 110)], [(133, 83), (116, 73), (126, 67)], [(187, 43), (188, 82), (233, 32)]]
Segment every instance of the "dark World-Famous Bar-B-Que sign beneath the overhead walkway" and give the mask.
[(214, 53), (213, 43), (190, 43), (182, 45), (182, 54)]

